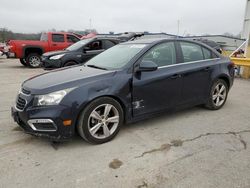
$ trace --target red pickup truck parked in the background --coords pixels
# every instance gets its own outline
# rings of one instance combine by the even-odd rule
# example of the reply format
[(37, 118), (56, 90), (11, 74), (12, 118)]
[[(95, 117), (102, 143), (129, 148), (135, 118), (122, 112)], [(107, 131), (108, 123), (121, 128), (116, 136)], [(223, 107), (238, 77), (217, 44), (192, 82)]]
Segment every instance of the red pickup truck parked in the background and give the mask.
[(65, 32), (42, 33), (40, 41), (10, 40), (8, 42), (8, 56), (19, 58), (20, 63), (24, 66), (36, 68), (41, 64), (43, 53), (62, 50), (79, 40), (79, 36)]

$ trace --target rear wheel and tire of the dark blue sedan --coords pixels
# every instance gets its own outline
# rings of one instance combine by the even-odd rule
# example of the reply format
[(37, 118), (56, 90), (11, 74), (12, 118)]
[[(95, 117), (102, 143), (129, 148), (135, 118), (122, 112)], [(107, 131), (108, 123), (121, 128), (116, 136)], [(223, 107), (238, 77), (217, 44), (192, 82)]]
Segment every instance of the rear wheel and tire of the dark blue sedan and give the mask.
[(224, 80), (216, 80), (211, 87), (209, 100), (205, 106), (210, 110), (219, 110), (227, 100), (228, 90), (228, 85)]

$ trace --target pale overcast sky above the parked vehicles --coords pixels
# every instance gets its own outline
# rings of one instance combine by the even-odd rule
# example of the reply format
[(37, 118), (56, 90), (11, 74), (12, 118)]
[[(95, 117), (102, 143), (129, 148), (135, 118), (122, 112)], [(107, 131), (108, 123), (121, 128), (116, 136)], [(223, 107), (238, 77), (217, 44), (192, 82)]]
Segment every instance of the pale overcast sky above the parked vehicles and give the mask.
[(1, 0), (0, 28), (178, 34), (179, 25), (179, 35), (237, 35), (245, 5), (246, 0)]

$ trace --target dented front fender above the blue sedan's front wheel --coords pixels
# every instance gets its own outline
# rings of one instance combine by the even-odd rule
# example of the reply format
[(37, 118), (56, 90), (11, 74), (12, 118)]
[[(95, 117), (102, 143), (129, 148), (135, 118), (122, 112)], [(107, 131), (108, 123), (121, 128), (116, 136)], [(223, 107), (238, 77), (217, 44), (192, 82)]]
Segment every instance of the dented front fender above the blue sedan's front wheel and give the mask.
[(72, 107), (73, 121), (76, 123), (80, 112), (92, 101), (100, 97), (112, 97), (123, 107), (125, 120), (127, 120), (132, 115), (131, 80), (131, 75), (124, 73), (89, 82), (71, 91), (62, 102)]

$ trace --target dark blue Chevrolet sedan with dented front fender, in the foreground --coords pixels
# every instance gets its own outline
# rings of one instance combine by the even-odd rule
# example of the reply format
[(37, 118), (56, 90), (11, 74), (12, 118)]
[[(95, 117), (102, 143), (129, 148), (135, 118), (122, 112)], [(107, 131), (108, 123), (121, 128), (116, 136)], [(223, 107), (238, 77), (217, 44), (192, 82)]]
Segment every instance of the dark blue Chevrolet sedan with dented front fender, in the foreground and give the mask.
[(90, 143), (113, 139), (124, 123), (204, 105), (218, 110), (234, 65), (205, 44), (144, 39), (116, 45), (85, 65), (26, 80), (12, 107), (25, 132), (53, 140), (76, 132)]

